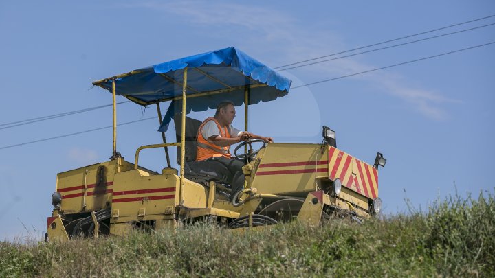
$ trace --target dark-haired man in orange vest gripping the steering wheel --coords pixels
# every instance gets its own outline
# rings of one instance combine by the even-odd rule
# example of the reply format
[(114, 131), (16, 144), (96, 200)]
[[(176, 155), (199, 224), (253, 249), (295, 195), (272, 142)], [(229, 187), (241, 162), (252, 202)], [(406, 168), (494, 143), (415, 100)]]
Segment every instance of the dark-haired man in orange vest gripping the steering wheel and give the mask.
[(245, 176), (242, 171), (244, 163), (231, 157), (230, 145), (248, 139), (262, 139), (266, 143), (273, 142), (272, 137), (263, 137), (234, 128), (232, 121), (235, 113), (233, 102), (220, 102), (214, 117), (203, 121), (197, 134), (197, 161), (216, 161), (219, 167), (227, 167), (230, 172), (227, 182), (232, 185), (231, 196), (243, 188)]

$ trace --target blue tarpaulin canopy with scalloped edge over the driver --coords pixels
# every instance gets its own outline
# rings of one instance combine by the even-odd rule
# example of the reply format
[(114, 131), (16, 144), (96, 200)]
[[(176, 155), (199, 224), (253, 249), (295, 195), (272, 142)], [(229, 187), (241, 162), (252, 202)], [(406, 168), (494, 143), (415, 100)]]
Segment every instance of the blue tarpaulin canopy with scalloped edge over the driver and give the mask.
[[(173, 117), (174, 108), (181, 106), (178, 102), (181, 102), (186, 67), (187, 113), (216, 108), (223, 100), (230, 100), (236, 106), (240, 106), (244, 102), (245, 86), (250, 88), (249, 104), (269, 102), (287, 95), (292, 83), (292, 80), (281, 76), (243, 51), (228, 47), (137, 69), (93, 84), (111, 92), (115, 79), (117, 95), (123, 95), (143, 106), (177, 100), (170, 103), (160, 126), (159, 130), (164, 131)], [(196, 94), (201, 94), (201, 97), (194, 97)]]

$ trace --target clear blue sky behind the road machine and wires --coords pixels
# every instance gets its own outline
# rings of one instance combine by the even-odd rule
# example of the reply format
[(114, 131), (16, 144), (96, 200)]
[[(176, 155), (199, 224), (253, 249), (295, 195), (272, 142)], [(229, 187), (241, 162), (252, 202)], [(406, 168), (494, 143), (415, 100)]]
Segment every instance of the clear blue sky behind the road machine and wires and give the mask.
[[(111, 94), (91, 82), (205, 51), (239, 47), (278, 67), (492, 14), (493, 1), (1, 1), (0, 124), (111, 104)], [(408, 40), (489, 23), (495, 17)], [(281, 73), (300, 86), (492, 41), (495, 26)], [(493, 192), (494, 50), (294, 89), (252, 106), (250, 130), (277, 142), (320, 143), (326, 125), (345, 152), (369, 163), (382, 152), (388, 163), (379, 192), (388, 214), (407, 211), (404, 198), (424, 209), (455, 188)], [(119, 123), (156, 115), (155, 107), (118, 106)], [(1, 239), (42, 235), (56, 173), (107, 160), (112, 135), (105, 129), (2, 147), (111, 122), (107, 107), (0, 130)], [(132, 161), (139, 146), (161, 141), (157, 128), (157, 119), (119, 127), (118, 151)], [(167, 137), (173, 141), (173, 128)], [(166, 165), (158, 150), (140, 161), (153, 170)]]

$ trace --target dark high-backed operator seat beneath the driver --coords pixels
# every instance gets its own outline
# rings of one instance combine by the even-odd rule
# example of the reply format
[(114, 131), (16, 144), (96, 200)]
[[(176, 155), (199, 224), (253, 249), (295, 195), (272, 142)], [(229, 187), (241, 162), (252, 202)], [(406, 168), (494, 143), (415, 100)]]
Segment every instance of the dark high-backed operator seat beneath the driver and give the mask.
[[(175, 137), (177, 142), (181, 141), (182, 113), (173, 117), (175, 126)], [(184, 159), (184, 176), (195, 182), (216, 181), (226, 183), (230, 171), (224, 165), (215, 161), (196, 161), (197, 157), (197, 133), (201, 121), (186, 116), (186, 156)], [(177, 146), (177, 163), (181, 162), (181, 148)]]

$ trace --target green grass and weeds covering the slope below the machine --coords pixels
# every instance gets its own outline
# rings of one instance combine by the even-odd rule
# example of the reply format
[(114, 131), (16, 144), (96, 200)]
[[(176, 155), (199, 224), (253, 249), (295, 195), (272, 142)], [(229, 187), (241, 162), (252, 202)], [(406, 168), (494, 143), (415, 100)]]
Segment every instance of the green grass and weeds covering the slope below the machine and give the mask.
[(1, 242), (0, 277), (495, 277), (494, 237), (488, 193), (364, 224), (244, 233), (201, 224), (125, 238)]

